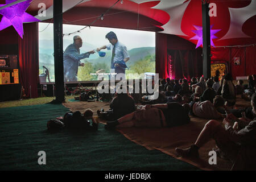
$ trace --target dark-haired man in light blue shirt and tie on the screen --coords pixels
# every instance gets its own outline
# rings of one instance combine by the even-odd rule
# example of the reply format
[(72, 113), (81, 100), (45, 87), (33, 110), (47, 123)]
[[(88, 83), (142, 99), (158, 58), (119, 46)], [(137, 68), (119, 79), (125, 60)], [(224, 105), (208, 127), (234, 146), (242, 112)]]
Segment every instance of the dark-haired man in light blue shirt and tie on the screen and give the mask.
[(97, 48), (97, 51), (112, 49), (110, 73), (125, 74), (126, 62), (130, 59), (126, 46), (118, 41), (117, 35), (114, 32), (109, 32), (106, 35), (106, 39), (109, 40), (110, 44)]

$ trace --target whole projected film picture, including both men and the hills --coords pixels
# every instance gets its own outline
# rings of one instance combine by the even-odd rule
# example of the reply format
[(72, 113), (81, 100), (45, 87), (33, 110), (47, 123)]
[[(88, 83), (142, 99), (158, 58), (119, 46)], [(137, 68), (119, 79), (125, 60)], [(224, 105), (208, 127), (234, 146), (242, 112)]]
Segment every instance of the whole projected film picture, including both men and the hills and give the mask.
[[(63, 34), (83, 27), (63, 24)], [(64, 36), (63, 51), (64, 81), (107, 80), (113, 73), (138, 79), (155, 73), (155, 32), (88, 27)], [(39, 75), (47, 71), (46, 82), (55, 81), (53, 52), (53, 24), (39, 23)]]

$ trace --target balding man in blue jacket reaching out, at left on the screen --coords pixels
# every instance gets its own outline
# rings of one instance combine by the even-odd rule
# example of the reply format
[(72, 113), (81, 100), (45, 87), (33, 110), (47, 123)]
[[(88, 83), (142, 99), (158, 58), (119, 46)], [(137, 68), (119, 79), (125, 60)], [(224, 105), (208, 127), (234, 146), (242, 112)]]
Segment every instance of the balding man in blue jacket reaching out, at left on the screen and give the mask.
[(63, 67), (64, 67), (64, 81), (77, 81), (78, 67), (84, 67), (84, 63), (81, 63), (81, 59), (89, 57), (91, 53), (95, 51), (89, 51), (80, 54), (80, 47), (82, 47), (82, 39), (76, 35), (73, 38), (73, 44), (70, 44), (63, 54)]

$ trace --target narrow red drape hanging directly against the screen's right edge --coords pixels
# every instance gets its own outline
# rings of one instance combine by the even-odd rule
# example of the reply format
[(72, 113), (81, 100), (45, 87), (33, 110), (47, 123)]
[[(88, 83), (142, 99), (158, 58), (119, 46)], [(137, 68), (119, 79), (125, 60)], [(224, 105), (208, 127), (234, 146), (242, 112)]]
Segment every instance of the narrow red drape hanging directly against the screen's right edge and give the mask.
[(156, 33), (155, 37), (155, 73), (159, 78), (167, 78), (167, 35)]

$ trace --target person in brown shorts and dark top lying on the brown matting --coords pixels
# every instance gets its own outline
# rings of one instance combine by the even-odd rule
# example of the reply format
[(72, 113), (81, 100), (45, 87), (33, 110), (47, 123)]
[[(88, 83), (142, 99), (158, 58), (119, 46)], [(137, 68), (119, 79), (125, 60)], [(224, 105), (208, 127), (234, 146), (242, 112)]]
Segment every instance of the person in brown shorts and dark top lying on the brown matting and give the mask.
[(106, 129), (114, 127), (174, 127), (190, 121), (188, 110), (177, 102), (145, 105), (143, 109), (107, 122)]

